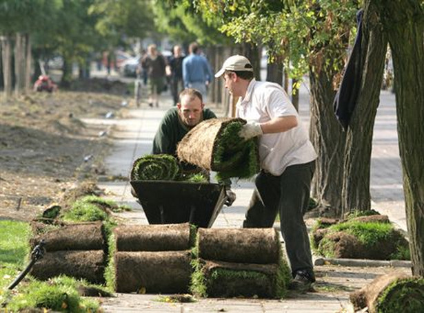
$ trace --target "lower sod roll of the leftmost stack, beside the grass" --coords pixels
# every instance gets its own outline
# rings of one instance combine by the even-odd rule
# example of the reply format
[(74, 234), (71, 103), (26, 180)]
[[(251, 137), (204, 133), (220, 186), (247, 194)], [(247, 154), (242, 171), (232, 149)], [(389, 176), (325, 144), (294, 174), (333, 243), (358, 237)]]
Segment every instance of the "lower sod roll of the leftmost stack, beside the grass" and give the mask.
[(30, 274), (46, 280), (61, 274), (90, 283), (104, 283), (105, 253), (103, 250), (46, 252), (37, 261)]

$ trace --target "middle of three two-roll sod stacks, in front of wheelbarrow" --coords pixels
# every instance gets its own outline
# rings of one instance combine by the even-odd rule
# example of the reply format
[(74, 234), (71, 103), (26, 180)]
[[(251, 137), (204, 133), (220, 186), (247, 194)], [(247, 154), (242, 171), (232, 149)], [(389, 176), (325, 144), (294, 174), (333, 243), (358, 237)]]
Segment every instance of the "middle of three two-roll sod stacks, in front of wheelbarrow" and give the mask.
[(186, 293), (195, 228), (190, 224), (119, 226), (114, 229), (117, 292)]

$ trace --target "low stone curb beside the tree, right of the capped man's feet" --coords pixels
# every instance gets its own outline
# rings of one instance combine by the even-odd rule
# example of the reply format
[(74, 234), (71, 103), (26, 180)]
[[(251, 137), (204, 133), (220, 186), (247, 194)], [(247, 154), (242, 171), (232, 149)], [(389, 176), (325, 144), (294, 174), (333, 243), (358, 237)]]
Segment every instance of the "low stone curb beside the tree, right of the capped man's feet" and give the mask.
[(393, 268), (411, 268), (411, 261), (403, 260), (370, 260), (370, 259), (332, 259), (327, 257), (320, 257), (315, 259), (314, 265), (339, 265), (339, 266), (361, 266), (361, 267), (383, 267), (390, 266)]

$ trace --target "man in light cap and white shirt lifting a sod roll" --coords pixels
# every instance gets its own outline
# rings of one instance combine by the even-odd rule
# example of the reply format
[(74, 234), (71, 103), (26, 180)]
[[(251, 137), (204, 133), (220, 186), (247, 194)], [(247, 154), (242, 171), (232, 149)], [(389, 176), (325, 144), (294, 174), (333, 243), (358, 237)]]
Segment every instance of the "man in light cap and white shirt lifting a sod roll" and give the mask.
[(215, 74), (239, 98), (236, 116), (248, 121), (239, 136), (259, 137), (261, 171), (245, 214), (243, 228), (269, 228), (279, 213), (293, 279), (289, 288), (309, 290), (315, 281), (303, 213), (310, 199), (316, 153), (284, 89), (256, 81), (245, 56), (230, 56)]

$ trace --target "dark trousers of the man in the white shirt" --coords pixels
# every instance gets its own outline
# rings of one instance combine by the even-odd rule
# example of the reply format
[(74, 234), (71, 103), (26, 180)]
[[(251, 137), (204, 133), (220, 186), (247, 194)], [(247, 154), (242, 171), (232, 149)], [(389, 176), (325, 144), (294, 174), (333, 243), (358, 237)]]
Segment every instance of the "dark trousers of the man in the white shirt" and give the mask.
[(256, 176), (244, 228), (269, 228), (280, 214), (281, 234), (292, 272), (307, 270), (314, 276), (312, 254), (303, 214), (310, 198), (315, 162), (288, 166), (280, 176), (261, 171)]

